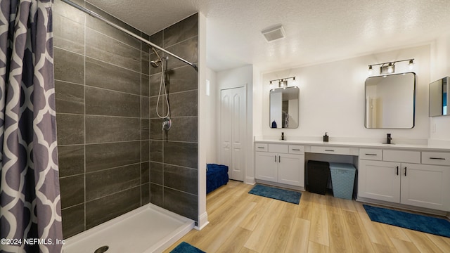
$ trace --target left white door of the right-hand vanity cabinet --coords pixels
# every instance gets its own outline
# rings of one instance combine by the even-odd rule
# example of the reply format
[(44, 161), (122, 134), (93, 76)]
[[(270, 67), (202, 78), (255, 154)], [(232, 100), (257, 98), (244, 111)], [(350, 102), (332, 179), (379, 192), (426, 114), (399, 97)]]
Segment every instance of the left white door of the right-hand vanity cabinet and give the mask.
[(400, 165), (399, 162), (359, 160), (358, 195), (399, 203)]

